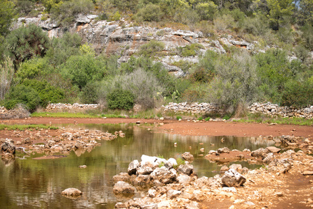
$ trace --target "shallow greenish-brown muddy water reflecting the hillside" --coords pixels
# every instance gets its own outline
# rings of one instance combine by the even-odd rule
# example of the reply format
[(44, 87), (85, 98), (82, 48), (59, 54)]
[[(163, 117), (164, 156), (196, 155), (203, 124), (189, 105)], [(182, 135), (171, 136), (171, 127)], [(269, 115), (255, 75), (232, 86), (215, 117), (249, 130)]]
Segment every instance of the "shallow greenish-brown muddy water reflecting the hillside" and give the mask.
[[(185, 151), (195, 157), (194, 171), (201, 176), (214, 176), (221, 165), (208, 162), (201, 154), (227, 146), (230, 149), (255, 150), (271, 145), (247, 137), (185, 137), (148, 131), (137, 125), (62, 125), (83, 129), (114, 132), (123, 130), (124, 138), (100, 141), (90, 153), (72, 152), (67, 157), (54, 160), (33, 160), (43, 154), (16, 158), (14, 162), (0, 162), (0, 208), (114, 208), (116, 199), (112, 193), (112, 176), (127, 171), (132, 160), (142, 155), (179, 157)], [(224, 138), (224, 142), (220, 139)], [(174, 143), (177, 145), (174, 146)], [(214, 146), (212, 146), (214, 144)], [(204, 148), (204, 153), (200, 151)], [(22, 158), (22, 153), (17, 153)], [(79, 169), (79, 165), (86, 169)], [(243, 163), (245, 167), (255, 165)], [(61, 196), (61, 191), (75, 187), (83, 192), (78, 199)], [(137, 194), (140, 196), (140, 194)]]

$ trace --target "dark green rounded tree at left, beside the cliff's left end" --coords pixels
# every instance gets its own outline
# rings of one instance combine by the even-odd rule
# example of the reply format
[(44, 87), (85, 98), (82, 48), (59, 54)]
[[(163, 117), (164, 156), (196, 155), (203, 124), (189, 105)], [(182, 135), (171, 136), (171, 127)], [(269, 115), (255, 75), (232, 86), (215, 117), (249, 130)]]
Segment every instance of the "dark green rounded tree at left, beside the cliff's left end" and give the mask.
[(15, 70), (20, 63), (33, 56), (44, 56), (49, 48), (49, 38), (35, 24), (22, 26), (6, 37), (7, 50), (13, 59)]

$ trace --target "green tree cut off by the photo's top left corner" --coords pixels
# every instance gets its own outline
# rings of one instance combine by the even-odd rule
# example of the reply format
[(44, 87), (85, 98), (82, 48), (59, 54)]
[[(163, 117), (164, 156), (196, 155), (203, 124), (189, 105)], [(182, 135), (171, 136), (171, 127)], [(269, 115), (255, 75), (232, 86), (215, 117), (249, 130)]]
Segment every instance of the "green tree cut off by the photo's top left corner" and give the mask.
[(12, 1), (7, 0), (0, 0), (0, 5), (0, 36), (6, 36), (15, 17), (15, 5)]

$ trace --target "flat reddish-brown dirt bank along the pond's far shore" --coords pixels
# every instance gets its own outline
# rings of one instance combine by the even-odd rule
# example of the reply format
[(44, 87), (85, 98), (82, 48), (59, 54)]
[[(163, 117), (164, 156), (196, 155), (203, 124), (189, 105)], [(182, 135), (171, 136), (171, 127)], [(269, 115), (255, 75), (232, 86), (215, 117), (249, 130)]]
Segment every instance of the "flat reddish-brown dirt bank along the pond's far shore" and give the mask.
[(158, 121), (136, 118), (29, 118), (0, 121), (0, 123), (18, 124), (60, 124), (60, 123), (164, 123), (158, 125), (158, 130), (183, 135), (207, 136), (238, 136), (238, 137), (278, 137), (294, 135), (295, 137), (313, 137), (313, 126), (300, 125), (268, 125), (262, 123), (234, 123), (234, 122), (188, 122), (188, 121)]

